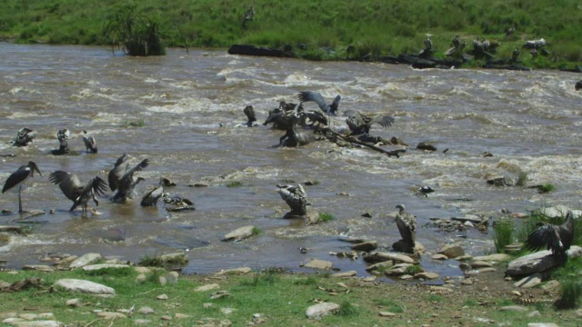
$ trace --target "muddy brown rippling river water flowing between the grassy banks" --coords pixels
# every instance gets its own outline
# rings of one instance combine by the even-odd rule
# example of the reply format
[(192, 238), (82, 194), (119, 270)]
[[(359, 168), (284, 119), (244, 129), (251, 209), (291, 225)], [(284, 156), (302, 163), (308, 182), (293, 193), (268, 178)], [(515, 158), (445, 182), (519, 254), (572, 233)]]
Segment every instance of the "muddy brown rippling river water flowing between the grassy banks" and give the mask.
[[(10, 45), (0, 43), (0, 181), (28, 161), (43, 176), (26, 182), (25, 210), (43, 210), (27, 218), (28, 235), (10, 234), (0, 243), (7, 267), (37, 264), (46, 254), (102, 253), (139, 261), (146, 255), (186, 252), (185, 273), (271, 266), (298, 270), (311, 258), (366, 275), (366, 264), (329, 253), (349, 251), (341, 236), (376, 240), (381, 251), (400, 237), (388, 217), (403, 203), (416, 214), (417, 241), (426, 247), (427, 270), (460, 273), (455, 261), (434, 262), (432, 253), (460, 242), (467, 253), (492, 251), (491, 233), (469, 229), (441, 233), (426, 226), (430, 218), (468, 213), (493, 216), (500, 211), (527, 213), (547, 205), (580, 205), (582, 177), (582, 93), (579, 74), (556, 71), (416, 70), (408, 65), (310, 62), (296, 59), (170, 49), (166, 56), (135, 58), (105, 47)], [(371, 134), (397, 136), (411, 145), (400, 158), (366, 148), (340, 148), (325, 141), (280, 148), (281, 131), (244, 124), (243, 108), (253, 105), (259, 121), (279, 101), (296, 102), (300, 91), (316, 91), (328, 101), (340, 94), (333, 126), (345, 129), (341, 113), (390, 114), (395, 123), (374, 125)], [(307, 110), (319, 110), (306, 103)], [(137, 125), (143, 122), (143, 126)], [(33, 144), (14, 147), (22, 127), (37, 132)], [(72, 133), (72, 154), (50, 154), (56, 132)], [(93, 134), (98, 154), (85, 154), (81, 139)], [(429, 142), (437, 151), (415, 150)], [(396, 146), (386, 146), (394, 150)], [(446, 153), (443, 151), (448, 149)], [(484, 157), (483, 153), (493, 154)], [(81, 181), (106, 173), (121, 154), (148, 158), (136, 176), (135, 200), (109, 202), (101, 197), (98, 215), (69, 212), (71, 202), (47, 176), (56, 170)], [(556, 190), (537, 193), (524, 187), (496, 187), (487, 179), (517, 178), (527, 184), (551, 183)], [(141, 194), (165, 176), (177, 185), (172, 194), (195, 203), (195, 211), (168, 213), (139, 205)], [(307, 226), (282, 219), (288, 206), (277, 183), (316, 182), (305, 186), (311, 207), (331, 213), (328, 223)], [(206, 187), (192, 187), (195, 183)], [(240, 183), (237, 187), (235, 183)], [(418, 197), (415, 190), (437, 190)], [(91, 203), (93, 205), (93, 203)], [(0, 195), (0, 225), (17, 224), (17, 195)], [(55, 209), (55, 213), (49, 213)], [(371, 213), (371, 218), (363, 216)], [(221, 242), (245, 225), (261, 233), (244, 242)], [(299, 247), (307, 248), (300, 253)]]

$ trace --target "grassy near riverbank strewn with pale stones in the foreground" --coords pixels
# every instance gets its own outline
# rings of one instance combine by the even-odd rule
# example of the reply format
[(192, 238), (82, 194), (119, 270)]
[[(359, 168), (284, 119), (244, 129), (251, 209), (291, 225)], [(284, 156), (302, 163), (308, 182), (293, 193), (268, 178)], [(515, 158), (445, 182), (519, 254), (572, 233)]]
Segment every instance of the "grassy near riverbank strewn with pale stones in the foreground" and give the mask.
[[(138, 274), (133, 268), (97, 272), (0, 272), (0, 281), (4, 282), (28, 277), (44, 280), (41, 289), (2, 293), (0, 321), (26, 313), (52, 313), (48, 319), (68, 325), (110, 326), (111, 321), (97, 313), (119, 312), (125, 317), (115, 318), (115, 326), (134, 326), (138, 320), (150, 321), (143, 322), (146, 324), (171, 320), (169, 323), (173, 325), (188, 326), (204, 323), (218, 326), (220, 322), (227, 326), (226, 320), (234, 326), (249, 322), (262, 322), (267, 326), (400, 326), (411, 323), (415, 326), (472, 326), (487, 322), (525, 326), (527, 322), (556, 322), (559, 325), (577, 322), (576, 312), (558, 312), (551, 307), (551, 302), (542, 301), (547, 299), (547, 294), (541, 289), (525, 292), (533, 294), (531, 299), (535, 300), (526, 304), (526, 312), (501, 310), (519, 303), (511, 293), (511, 282), (503, 281), (502, 272), (483, 273), (473, 284), (454, 283), (448, 287), (450, 291), (414, 282), (366, 282), (356, 277), (333, 278), (329, 273), (289, 274), (276, 270), (245, 275), (180, 276), (176, 282), (162, 285), (159, 277), (166, 274), (149, 272), (146, 279), (137, 282)], [(113, 287), (116, 294), (104, 298), (67, 292), (58, 287), (51, 290), (51, 285), (62, 278), (105, 284)], [(217, 284), (215, 289), (195, 291), (199, 286), (213, 283)], [(226, 291), (228, 295), (212, 299), (219, 291)], [(77, 306), (67, 305), (67, 300), (71, 299), (81, 302), (77, 302)], [(340, 310), (320, 321), (307, 319), (306, 309), (316, 302), (334, 302), (339, 304)], [(135, 311), (130, 314), (128, 310), (132, 306)], [(143, 307), (153, 312), (140, 312)], [(534, 311), (539, 315), (528, 316), (528, 312)]]

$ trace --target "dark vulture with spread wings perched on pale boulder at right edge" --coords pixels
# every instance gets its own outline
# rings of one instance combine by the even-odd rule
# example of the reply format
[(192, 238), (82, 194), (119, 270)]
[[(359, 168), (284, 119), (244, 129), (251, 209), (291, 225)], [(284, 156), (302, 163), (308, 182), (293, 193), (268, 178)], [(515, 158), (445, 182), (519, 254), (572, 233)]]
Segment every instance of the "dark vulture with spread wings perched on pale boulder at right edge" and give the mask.
[(574, 239), (574, 217), (567, 212), (566, 222), (561, 225), (547, 223), (527, 235), (527, 247), (537, 251), (543, 247), (551, 250), (560, 263), (567, 261), (567, 249)]

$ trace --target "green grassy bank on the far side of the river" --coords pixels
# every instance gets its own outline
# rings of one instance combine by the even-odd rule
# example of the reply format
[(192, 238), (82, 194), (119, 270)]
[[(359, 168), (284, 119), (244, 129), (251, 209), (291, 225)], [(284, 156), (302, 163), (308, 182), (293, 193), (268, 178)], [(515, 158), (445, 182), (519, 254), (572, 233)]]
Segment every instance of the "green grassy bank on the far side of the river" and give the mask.
[[(0, 2), (0, 38), (18, 43), (108, 45), (102, 34), (107, 15), (118, 8), (113, 0), (36, 0)], [(255, 16), (243, 27), (246, 10)], [(280, 47), (305, 44), (306, 57), (346, 57), (348, 45), (356, 54), (417, 53), (431, 34), (437, 55), (450, 47), (454, 35), (467, 41), (487, 37), (499, 42), (497, 57), (510, 58), (526, 40), (545, 38), (550, 54), (524, 64), (540, 68), (572, 68), (582, 62), (579, 22), (582, 6), (571, 0), (441, 1), (393, 0), (358, 2), (326, 0), (135, 2), (137, 10), (159, 23), (169, 46), (227, 47), (251, 44)], [(514, 35), (506, 30), (516, 26)], [(336, 50), (335, 55), (320, 51)], [(525, 50), (525, 49), (524, 49)]]

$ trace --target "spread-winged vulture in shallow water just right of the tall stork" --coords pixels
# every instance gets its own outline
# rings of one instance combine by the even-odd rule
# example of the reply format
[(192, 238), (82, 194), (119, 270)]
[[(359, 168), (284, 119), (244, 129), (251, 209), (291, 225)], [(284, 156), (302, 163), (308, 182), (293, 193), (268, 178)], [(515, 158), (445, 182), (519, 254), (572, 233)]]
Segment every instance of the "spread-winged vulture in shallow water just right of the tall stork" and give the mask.
[(75, 210), (79, 205), (83, 211), (87, 211), (87, 203), (91, 199), (95, 205), (99, 205), (97, 196), (103, 195), (107, 191), (107, 183), (99, 176), (93, 177), (84, 185), (74, 173), (56, 171), (48, 176), (48, 180), (57, 184), (67, 199), (73, 201), (73, 206), (69, 211)]

